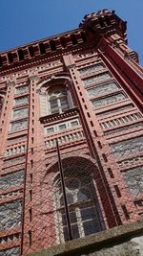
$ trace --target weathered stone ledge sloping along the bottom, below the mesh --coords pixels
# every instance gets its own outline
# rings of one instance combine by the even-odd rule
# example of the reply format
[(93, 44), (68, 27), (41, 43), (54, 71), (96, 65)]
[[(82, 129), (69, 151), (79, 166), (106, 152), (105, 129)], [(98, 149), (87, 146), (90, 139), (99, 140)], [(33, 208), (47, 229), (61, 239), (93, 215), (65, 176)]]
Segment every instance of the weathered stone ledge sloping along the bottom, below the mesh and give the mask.
[(26, 256), (86, 255), (86, 252), (89, 254), (103, 248), (123, 244), (141, 235), (143, 235), (143, 221), (137, 221), (116, 226), (85, 238), (75, 239), (65, 244), (51, 246), (51, 248), (33, 252)]

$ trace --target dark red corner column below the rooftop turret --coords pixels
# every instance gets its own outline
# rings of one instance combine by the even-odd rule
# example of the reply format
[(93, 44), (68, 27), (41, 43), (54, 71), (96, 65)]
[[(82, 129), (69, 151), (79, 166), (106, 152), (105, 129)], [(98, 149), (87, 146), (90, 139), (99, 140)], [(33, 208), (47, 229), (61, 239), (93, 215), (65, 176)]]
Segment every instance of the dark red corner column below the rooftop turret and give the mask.
[[(134, 103), (143, 109), (143, 71), (137, 65), (132, 65), (132, 60), (127, 61), (123, 54), (119, 54), (108, 39), (103, 38), (99, 43), (98, 51), (113, 75), (121, 81), (124, 89), (131, 96)], [(120, 52), (120, 50), (118, 49)], [(131, 63), (130, 63), (131, 62)]]

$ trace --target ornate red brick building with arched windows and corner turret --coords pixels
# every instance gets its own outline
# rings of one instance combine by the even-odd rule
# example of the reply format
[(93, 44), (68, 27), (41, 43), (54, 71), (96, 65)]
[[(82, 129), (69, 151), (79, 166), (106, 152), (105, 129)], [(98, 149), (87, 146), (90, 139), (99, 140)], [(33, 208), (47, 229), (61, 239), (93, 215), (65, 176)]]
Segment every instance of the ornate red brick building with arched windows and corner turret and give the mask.
[(140, 219), (142, 78), (108, 10), (0, 54), (0, 255)]

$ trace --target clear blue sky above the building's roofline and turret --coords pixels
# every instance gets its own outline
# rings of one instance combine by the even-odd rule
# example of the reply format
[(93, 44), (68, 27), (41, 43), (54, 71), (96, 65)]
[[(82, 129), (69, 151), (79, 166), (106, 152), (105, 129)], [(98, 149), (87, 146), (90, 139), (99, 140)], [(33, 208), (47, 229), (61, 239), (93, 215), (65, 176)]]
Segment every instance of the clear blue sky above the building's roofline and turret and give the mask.
[(75, 29), (105, 8), (127, 20), (129, 46), (143, 65), (143, 0), (0, 0), (0, 51)]

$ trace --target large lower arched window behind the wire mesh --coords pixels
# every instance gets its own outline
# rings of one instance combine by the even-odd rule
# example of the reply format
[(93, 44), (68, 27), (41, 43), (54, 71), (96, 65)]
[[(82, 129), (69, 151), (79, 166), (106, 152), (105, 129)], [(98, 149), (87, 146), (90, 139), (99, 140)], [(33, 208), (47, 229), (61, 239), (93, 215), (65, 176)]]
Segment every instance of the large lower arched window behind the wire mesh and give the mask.
[[(84, 237), (105, 229), (91, 172), (80, 167), (80, 165), (73, 166), (69, 160), (64, 175), (72, 238)], [(60, 175), (56, 176), (53, 187), (55, 189), (56, 208), (55, 226), (58, 227), (58, 240), (63, 243), (69, 240), (69, 233)]]

